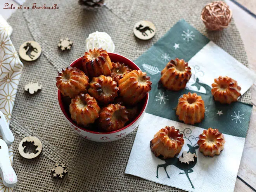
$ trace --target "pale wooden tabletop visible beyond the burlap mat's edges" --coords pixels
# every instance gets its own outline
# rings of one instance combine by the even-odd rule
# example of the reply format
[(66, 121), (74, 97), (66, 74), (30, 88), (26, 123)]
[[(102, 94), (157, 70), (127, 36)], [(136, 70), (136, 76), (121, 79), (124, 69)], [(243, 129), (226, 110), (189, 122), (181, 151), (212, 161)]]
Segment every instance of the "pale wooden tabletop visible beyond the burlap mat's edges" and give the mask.
[[(1, 8), (4, 3), (13, 3), (15, 7), (25, 0), (0, 0)], [(239, 29), (246, 49), (249, 68), (256, 72), (256, 0), (225, 0), (233, 11), (233, 18)], [(3, 3), (2, 3), (3, 2)], [(240, 4), (240, 5), (239, 5)], [(246, 11), (248, 9), (249, 11)], [(1, 9), (0, 14), (8, 19), (16, 9)], [(251, 13), (250, 13), (251, 11)], [(242, 159), (237, 173), (235, 192), (256, 192), (256, 82), (252, 86), (253, 111)]]

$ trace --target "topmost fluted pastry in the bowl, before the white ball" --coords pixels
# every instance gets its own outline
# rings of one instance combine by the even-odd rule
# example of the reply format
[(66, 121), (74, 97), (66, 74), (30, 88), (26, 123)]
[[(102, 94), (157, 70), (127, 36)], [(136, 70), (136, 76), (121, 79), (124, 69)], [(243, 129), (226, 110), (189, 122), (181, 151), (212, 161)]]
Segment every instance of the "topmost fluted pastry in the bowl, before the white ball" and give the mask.
[(90, 78), (111, 74), (112, 62), (106, 50), (94, 48), (83, 55), (83, 69)]

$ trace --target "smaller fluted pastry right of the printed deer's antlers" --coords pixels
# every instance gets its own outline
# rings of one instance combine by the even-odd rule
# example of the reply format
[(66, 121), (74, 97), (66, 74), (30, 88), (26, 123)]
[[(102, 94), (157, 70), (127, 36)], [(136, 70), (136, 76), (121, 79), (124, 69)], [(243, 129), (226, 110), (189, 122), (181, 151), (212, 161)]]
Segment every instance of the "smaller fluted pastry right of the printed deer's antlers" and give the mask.
[(213, 157), (214, 155), (219, 155), (221, 150), (224, 149), (224, 135), (217, 129), (209, 128), (199, 135), (197, 144), (199, 145), (199, 150), (204, 154), (204, 156)]

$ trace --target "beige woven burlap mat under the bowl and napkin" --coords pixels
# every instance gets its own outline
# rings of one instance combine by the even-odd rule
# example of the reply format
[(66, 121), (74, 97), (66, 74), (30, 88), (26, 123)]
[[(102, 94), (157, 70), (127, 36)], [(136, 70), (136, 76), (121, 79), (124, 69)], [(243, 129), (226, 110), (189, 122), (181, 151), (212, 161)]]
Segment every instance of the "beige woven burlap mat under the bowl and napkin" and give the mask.
[[(27, 0), (23, 6), (32, 7), (33, 3)], [(234, 21), (224, 31), (207, 33), (199, 16), (208, 0), (107, 0), (106, 6), (97, 12), (83, 10), (76, 0), (45, 0), (43, 3), (48, 6), (58, 3), (59, 9), (17, 10), (8, 20), (14, 29), (11, 39), (16, 50), (26, 40), (35, 40), (42, 46), (42, 56), (37, 61), (23, 61), (24, 70), (10, 124), (16, 137), (14, 169), (19, 183), (15, 190), (180, 191), (124, 174), (136, 131), (111, 143), (90, 142), (73, 133), (58, 106), (55, 77), (58, 70), (83, 55), (89, 33), (96, 30), (109, 33), (116, 53), (136, 59), (182, 18), (247, 65)], [(133, 25), (142, 19), (156, 25), (156, 36), (152, 40), (138, 40), (133, 35)], [(74, 45), (71, 51), (62, 52), (57, 44), (65, 37)], [(24, 92), (24, 85), (32, 81), (43, 85), (42, 91), (35, 95)], [(242, 101), (248, 103), (250, 98), (250, 93), (246, 93)], [(42, 154), (34, 160), (26, 160), (17, 152), (19, 141), (28, 135), (35, 135), (43, 143)], [(50, 174), (55, 162), (66, 164), (69, 171), (62, 180)]]

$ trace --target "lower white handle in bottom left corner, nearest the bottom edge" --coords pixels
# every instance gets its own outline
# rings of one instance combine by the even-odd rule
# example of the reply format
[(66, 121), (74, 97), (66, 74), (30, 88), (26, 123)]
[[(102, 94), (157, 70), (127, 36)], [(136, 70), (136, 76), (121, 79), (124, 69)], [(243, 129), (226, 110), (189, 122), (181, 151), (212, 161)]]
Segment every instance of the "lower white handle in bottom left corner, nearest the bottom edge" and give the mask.
[(18, 178), (10, 163), (8, 146), (2, 139), (0, 139), (0, 174), (6, 187), (14, 187), (17, 184)]

